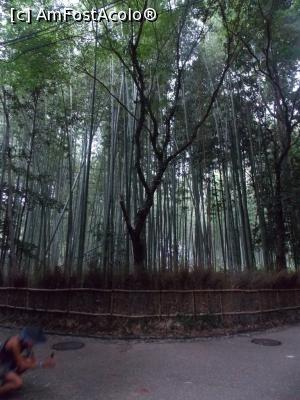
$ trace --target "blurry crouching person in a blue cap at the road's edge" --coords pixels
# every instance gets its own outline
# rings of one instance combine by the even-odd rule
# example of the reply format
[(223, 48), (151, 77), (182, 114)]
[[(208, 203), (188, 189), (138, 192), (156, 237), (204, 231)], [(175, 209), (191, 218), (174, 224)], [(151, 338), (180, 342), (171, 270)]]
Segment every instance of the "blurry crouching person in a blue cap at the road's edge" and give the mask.
[(28, 369), (55, 366), (53, 357), (37, 361), (33, 354), (33, 346), (45, 341), (41, 328), (28, 327), (4, 342), (0, 350), (0, 396), (20, 389), (23, 385), (21, 374)]

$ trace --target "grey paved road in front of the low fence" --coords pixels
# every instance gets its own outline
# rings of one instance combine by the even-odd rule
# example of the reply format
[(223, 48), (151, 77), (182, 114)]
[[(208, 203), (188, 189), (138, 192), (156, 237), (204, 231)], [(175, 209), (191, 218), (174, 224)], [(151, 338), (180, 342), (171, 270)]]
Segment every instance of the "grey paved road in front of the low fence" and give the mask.
[[(8, 336), (0, 329), (0, 340)], [(266, 347), (253, 337), (282, 341)], [(53, 343), (78, 340), (51, 336)], [(300, 400), (300, 325), (235, 337), (128, 342), (80, 338), (54, 370), (25, 375), (11, 400)]]

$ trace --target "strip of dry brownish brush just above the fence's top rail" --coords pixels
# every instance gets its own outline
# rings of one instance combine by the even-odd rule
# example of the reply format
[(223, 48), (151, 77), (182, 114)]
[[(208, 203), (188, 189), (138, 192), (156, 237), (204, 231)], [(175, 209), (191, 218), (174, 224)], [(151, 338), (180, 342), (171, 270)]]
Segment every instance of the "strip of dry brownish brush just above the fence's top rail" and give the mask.
[[(0, 282), (3, 285), (2, 282)], [(105, 276), (103, 272), (90, 269), (82, 282), (76, 275), (66, 278), (63, 271), (56, 268), (35, 283), (28, 282), (24, 275), (16, 276), (13, 286), (39, 288), (87, 287), (99, 289), (293, 289), (300, 288), (299, 272), (243, 272), (229, 274), (211, 270), (142, 273), (127, 276)]]

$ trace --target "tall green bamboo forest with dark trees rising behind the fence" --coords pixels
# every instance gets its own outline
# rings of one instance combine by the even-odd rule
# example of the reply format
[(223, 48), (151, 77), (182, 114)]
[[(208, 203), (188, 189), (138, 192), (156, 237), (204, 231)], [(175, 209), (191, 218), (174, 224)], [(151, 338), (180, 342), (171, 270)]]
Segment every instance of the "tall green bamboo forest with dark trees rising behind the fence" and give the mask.
[(0, 14), (1, 284), (298, 271), (299, 0)]

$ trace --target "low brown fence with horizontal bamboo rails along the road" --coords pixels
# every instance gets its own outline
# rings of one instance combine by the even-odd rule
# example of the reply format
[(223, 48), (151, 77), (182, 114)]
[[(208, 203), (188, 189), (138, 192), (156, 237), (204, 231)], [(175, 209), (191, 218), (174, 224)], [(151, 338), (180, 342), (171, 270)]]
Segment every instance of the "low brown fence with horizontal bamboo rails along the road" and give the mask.
[(0, 309), (57, 315), (174, 318), (300, 310), (300, 289), (36, 289), (0, 287)]

